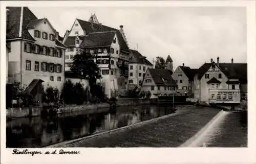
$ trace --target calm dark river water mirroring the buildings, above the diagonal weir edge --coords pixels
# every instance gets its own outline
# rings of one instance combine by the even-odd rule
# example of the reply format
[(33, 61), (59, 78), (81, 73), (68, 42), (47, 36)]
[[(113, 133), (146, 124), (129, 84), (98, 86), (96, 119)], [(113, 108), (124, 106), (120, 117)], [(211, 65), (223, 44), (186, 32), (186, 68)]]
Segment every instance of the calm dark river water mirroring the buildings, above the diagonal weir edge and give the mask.
[(44, 147), (82, 136), (132, 125), (173, 113), (167, 106), (127, 106), (116, 110), (73, 112), (51, 118), (19, 118), (7, 122), (8, 148)]

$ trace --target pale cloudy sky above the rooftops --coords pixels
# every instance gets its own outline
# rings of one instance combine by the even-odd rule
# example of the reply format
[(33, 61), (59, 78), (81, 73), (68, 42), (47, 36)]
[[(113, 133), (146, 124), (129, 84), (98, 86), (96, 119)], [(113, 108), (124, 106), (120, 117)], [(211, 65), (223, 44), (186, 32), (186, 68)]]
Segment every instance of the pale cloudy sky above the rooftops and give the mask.
[(129, 48), (152, 62), (173, 59), (174, 69), (198, 68), (217, 62), (247, 62), (245, 7), (29, 7), (37, 18), (48, 18), (63, 37), (75, 19), (96, 14), (102, 25), (123, 30)]

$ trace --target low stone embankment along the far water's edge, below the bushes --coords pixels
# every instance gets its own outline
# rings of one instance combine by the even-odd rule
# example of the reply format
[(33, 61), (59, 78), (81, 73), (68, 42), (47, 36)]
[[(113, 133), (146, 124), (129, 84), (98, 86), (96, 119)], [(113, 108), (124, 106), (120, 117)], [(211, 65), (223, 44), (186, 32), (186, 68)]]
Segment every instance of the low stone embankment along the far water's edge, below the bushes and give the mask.
[[(131, 106), (131, 105), (146, 105), (146, 104), (155, 104), (157, 99), (118, 99), (116, 106)], [(100, 103), (100, 104), (83, 104), (83, 105), (65, 105), (58, 109), (58, 113), (68, 113), (75, 111), (84, 111), (84, 110), (98, 110), (101, 108), (109, 108), (109, 103)], [(41, 114), (40, 107), (32, 107), (32, 114), (29, 115), (29, 109), (26, 108), (10, 108), (6, 109), (6, 118), (23, 118), (27, 116), (39, 116)]]

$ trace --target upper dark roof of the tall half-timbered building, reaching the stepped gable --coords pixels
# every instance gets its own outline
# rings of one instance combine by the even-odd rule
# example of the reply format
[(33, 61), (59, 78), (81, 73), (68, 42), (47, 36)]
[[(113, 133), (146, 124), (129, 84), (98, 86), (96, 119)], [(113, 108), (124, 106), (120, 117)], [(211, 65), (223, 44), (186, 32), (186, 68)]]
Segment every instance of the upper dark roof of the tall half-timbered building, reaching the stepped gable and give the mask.
[(92, 33), (92, 32), (116, 31), (120, 49), (126, 50), (126, 51), (129, 50), (129, 48), (128, 48), (126, 42), (124, 41), (123, 36), (119, 30), (108, 27), (108, 26), (100, 25), (100, 24), (92, 24), (93, 26), (91, 26), (91, 22), (84, 21), (81, 19), (77, 19), (77, 21), (79, 22), (82, 29), (86, 31), (87, 34)]

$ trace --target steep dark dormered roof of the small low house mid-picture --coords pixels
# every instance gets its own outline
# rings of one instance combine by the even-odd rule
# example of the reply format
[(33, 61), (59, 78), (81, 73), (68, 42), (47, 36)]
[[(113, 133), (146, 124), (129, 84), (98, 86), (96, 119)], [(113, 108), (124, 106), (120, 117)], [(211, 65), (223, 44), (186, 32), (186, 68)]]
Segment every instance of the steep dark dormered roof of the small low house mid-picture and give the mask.
[[(153, 68), (148, 68), (147, 69), (151, 76), (152, 79), (154, 80), (156, 85), (167, 85), (167, 86), (176, 86), (177, 83), (174, 81), (172, 78), (172, 71), (169, 71), (168, 69), (153, 69)], [(167, 82), (164, 82), (164, 80), (167, 80)]]

